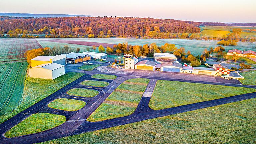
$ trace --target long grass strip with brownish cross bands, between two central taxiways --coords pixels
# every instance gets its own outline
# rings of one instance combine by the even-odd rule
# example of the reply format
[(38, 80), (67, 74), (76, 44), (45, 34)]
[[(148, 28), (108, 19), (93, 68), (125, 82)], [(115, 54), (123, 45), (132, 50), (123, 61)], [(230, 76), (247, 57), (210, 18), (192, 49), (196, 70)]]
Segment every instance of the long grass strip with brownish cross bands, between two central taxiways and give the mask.
[[(111, 93), (87, 120), (95, 122), (132, 114), (136, 110), (148, 82), (148, 79), (143, 78), (126, 80)], [(124, 87), (124, 84), (128, 85), (126, 83), (132, 85), (132, 87), (129, 86), (130, 90)]]

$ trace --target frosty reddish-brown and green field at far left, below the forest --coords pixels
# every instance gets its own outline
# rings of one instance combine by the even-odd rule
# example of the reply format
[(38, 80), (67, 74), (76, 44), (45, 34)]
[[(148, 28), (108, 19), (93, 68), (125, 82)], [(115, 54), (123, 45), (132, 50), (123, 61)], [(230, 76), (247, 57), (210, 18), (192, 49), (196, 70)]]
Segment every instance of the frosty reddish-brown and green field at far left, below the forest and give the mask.
[(27, 50), (42, 48), (33, 38), (0, 38), (0, 62), (24, 60)]

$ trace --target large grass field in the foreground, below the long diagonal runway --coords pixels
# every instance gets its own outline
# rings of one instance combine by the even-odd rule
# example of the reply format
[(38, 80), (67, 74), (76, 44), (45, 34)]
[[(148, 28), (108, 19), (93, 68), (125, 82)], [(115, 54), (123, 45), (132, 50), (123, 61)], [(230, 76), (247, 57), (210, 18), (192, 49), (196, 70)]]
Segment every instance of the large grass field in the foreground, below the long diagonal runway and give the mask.
[(256, 98), (63, 137), (70, 143), (255, 143)]

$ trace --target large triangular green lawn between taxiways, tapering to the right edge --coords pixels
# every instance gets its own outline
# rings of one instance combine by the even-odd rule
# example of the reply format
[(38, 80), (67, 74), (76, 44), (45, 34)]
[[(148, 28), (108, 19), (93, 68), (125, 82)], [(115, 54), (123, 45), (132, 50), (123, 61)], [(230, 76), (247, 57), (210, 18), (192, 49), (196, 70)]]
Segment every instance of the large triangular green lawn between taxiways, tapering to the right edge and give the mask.
[(154, 110), (256, 92), (256, 89), (158, 80), (149, 102)]

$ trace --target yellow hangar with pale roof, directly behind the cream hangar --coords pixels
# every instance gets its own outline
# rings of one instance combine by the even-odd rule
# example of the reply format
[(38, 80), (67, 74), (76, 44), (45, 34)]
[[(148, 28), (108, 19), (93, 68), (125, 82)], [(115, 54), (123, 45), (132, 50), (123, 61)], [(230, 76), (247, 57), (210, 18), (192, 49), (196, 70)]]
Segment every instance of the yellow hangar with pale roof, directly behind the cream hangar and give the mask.
[(66, 65), (66, 56), (56, 55), (56, 56), (37, 56), (30, 60), (31, 67), (35, 67), (46, 63), (57, 63), (61, 65)]

